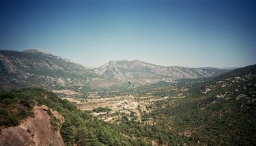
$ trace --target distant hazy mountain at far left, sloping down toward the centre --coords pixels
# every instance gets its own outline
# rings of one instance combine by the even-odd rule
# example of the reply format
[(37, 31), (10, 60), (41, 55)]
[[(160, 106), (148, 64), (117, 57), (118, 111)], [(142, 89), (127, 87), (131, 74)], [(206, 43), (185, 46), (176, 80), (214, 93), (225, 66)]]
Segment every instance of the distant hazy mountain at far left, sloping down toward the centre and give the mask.
[(87, 91), (119, 85), (118, 81), (103, 78), (82, 65), (41, 50), (0, 50), (0, 70), (0, 89), (44, 87)]

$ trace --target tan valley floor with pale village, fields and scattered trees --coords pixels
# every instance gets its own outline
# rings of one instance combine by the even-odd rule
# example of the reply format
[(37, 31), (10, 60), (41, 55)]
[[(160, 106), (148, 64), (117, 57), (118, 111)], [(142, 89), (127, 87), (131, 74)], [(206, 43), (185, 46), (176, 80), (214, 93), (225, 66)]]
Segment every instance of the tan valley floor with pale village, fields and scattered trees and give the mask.
[[(147, 93), (139, 94), (137, 91), (111, 91), (97, 93), (79, 93), (72, 90), (55, 90), (62, 99), (66, 99), (91, 115), (111, 123), (119, 123), (122, 120), (139, 121), (145, 124), (154, 124), (150, 120), (142, 120), (141, 115), (150, 113), (153, 109), (150, 105), (159, 100), (171, 99), (174, 103), (177, 98), (184, 98), (185, 87), (178, 88), (175, 85), (162, 87), (147, 87)], [(166, 91), (174, 93), (172, 95), (158, 95), (156, 91)], [(110, 95), (111, 93), (111, 95)]]

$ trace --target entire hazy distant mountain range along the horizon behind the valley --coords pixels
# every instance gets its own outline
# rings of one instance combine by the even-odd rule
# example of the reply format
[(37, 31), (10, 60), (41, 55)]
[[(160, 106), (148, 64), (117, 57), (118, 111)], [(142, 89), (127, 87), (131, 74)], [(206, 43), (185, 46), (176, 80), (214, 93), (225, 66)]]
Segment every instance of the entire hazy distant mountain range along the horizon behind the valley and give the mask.
[(109, 61), (99, 68), (86, 68), (44, 50), (0, 50), (0, 89), (43, 87), (86, 92), (134, 88), (182, 78), (212, 77), (229, 71), (221, 68), (165, 67), (139, 60)]

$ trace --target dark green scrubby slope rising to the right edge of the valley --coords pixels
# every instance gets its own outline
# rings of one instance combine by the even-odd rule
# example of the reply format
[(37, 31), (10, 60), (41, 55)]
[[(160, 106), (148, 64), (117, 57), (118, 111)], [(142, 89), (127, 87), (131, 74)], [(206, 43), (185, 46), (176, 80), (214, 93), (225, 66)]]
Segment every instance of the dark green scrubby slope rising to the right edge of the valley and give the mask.
[(255, 145), (256, 65), (194, 85), (184, 95), (155, 102), (147, 117), (187, 136), (188, 145)]

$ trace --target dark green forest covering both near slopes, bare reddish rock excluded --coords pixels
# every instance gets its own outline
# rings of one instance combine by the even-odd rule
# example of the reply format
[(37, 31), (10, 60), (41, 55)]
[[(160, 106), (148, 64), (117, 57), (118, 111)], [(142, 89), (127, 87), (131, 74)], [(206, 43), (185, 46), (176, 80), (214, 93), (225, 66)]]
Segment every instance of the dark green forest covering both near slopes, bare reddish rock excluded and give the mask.
[[(155, 91), (169, 88), (160, 84), (148, 89), (152, 96), (162, 96)], [(141, 120), (120, 113), (122, 119), (114, 123), (93, 117), (43, 89), (2, 91), (0, 126), (18, 126), (23, 119), (34, 116), (35, 106), (46, 105), (65, 118), (63, 123), (51, 118), (51, 126), (59, 130), (66, 145), (255, 145), (256, 65), (206, 82), (188, 81), (173, 91), (164, 94), (170, 98), (150, 102)], [(182, 98), (175, 98), (180, 93)], [(107, 107), (94, 111), (102, 110), (111, 111)]]

